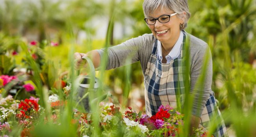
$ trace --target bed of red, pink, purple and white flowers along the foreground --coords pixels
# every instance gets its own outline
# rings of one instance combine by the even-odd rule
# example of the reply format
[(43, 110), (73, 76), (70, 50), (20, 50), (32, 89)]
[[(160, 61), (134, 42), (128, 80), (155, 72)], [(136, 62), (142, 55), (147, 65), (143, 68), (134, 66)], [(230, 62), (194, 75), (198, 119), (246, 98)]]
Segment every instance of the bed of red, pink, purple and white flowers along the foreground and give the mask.
[[(11, 81), (19, 81), (19, 79), (16, 76), (0, 76), (0, 81), (2, 81), (0, 83), (1, 90), (4, 91), (4, 86)], [(32, 84), (20, 83), (22, 86), (20, 86), (19, 91), (31, 92), (35, 90)], [(34, 96), (24, 100), (14, 100), (11, 95), (2, 97), (0, 94), (0, 133), (5, 136), (12, 135), (17, 130), (15, 126), (18, 126), (18, 135), (25, 137), (37, 135), (35, 127), (39, 125), (46, 126), (51, 123), (57, 128), (61, 127), (60, 125), (64, 124), (61, 121), (61, 117), (63, 117), (61, 111), (63, 112), (68, 107), (70, 90), (71, 85), (69, 84), (61, 91), (67, 99), (60, 99), (57, 94), (51, 94), (46, 101), (50, 108), (40, 106), (38, 104), (39, 98)], [(151, 117), (141, 112), (136, 113), (132, 111), (131, 107), (122, 113), (119, 111), (120, 108), (113, 103), (100, 102), (98, 110), (100, 112), (97, 113), (97, 117), (95, 113), (82, 113), (73, 109), (70, 121), (76, 128), (78, 136), (175, 137), (181, 134), (184, 125), (184, 115), (169, 105), (161, 105), (156, 115)], [(47, 111), (50, 112), (48, 116), (46, 115)], [(95, 133), (96, 128), (98, 128), (98, 133)], [(206, 133), (196, 129), (193, 136), (203, 137), (206, 136)]]

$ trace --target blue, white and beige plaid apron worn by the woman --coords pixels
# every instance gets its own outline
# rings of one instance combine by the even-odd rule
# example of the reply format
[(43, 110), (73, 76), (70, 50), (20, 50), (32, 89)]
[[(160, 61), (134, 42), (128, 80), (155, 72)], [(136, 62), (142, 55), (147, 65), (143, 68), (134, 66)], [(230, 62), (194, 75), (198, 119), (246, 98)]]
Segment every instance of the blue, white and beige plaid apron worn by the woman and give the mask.
[[(182, 52), (185, 49), (187, 34), (184, 31), (182, 32), (184, 35), (180, 51), (181, 56), (171, 60), (170, 63), (161, 63), (156, 56), (158, 40), (154, 43), (144, 75), (145, 107), (149, 116), (155, 115), (160, 105), (170, 105), (175, 108), (177, 105), (183, 106), (184, 104), (185, 86), (182, 72), (184, 73), (186, 67), (183, 65), (185, 63), (182, 63)], [(216, 119), (221, 121), (221, 124), (215, 126), (216, 130), (213, 135), (215, 137), (228, 136), (215, 98), (210, 96), (200, 117), (199, 127), (203, 127), (207, 131), (210, 128), (210, 122), (216, 121)]]

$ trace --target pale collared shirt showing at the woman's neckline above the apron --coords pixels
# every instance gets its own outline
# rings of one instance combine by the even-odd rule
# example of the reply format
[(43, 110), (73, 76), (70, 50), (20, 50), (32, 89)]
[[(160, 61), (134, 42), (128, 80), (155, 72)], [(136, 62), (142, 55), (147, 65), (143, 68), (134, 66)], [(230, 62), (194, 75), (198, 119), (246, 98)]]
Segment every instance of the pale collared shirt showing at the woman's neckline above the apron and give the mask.
[[(165, 56), (165, 59), (167, 60), (166, 63), (170, 63), (171, 60), (176, 59), (180, 56), (180, 50), (181, 50), (181, 44), (183, 41), (183, 32), (180, 31), (180, 37), (178, 38), (177, 42), (173, 46), (173, 49), (170, 51), (170, 53)], [(162, 57), (162, 47), (161, 47), (161, 42), (158, 40), (157, 44), (157, 56), (158, 59), (162, 62), (163, 57)]]

